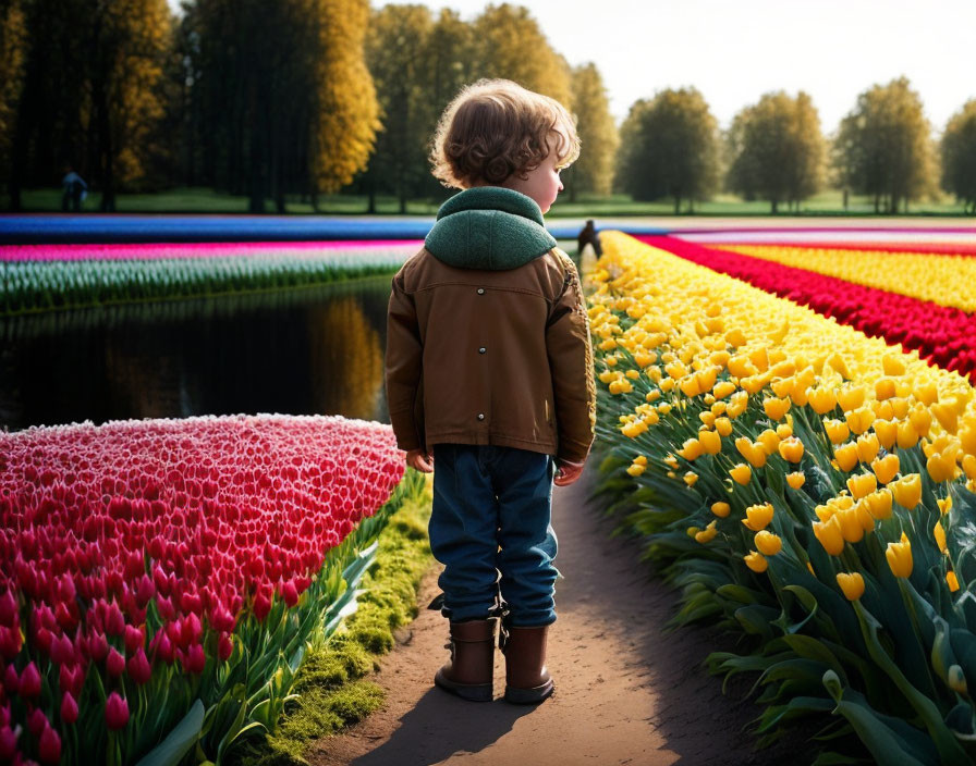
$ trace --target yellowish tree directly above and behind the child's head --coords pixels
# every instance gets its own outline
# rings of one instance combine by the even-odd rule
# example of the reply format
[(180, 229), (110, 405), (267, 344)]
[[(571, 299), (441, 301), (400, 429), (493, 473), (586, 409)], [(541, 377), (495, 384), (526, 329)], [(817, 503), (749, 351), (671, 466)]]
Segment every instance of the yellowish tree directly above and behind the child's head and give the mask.
[(487, 5), (472, 23), (474, 77), (503, 77), (570, 104), (570, 67), (520, 5)]

